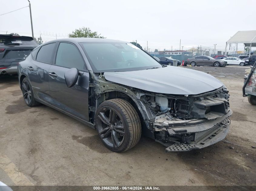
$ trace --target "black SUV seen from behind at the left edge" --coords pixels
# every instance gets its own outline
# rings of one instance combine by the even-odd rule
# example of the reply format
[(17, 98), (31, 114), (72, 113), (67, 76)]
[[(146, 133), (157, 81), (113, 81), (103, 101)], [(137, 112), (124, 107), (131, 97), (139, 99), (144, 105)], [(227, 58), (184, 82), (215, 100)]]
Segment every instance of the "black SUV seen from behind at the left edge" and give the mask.
[(38, 46), (32, 37), (0, 34), (0, 75), (17, 74), (18, 62)]

